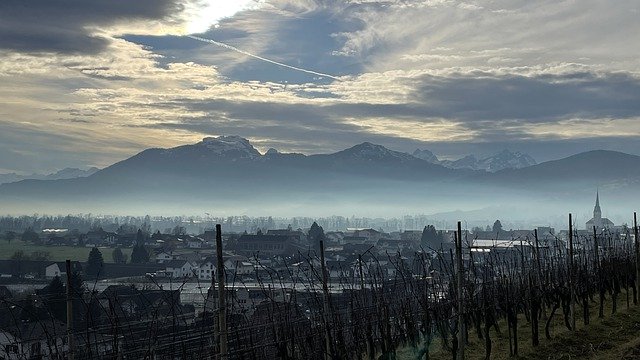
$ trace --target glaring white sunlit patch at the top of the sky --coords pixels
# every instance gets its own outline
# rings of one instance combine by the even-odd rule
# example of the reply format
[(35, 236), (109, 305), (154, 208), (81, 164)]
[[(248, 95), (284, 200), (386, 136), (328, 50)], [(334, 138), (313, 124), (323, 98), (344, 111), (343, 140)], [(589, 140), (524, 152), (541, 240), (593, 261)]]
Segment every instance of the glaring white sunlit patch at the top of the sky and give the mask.
[(257, 0), (203, 0), (197, 2), (189, 13), (187, 33), (200, 34), (218, 21), (231, 17), (242, 10), (252, 9), (262, 1)]

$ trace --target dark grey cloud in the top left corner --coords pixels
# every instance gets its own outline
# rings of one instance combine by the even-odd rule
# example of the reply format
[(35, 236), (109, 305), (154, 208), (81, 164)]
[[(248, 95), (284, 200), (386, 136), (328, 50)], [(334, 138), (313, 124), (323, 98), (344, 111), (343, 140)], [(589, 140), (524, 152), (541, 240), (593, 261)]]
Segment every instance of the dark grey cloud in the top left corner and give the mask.
[(87, 27), (126, 20), (173, 18), (180, 0), (3, 0), (0, 49), (20, 52), (96, 53), (109, 43)]

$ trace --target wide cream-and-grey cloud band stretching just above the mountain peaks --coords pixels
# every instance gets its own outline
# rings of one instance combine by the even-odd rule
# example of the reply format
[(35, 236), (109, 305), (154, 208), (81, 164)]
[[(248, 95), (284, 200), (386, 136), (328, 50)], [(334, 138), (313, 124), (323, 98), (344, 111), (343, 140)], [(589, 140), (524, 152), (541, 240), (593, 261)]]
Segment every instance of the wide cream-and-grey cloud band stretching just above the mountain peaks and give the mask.
[[(117, 112), (129, 122), (137, 119), (132, 126), (194, 136), (242, 134), (303, 152), (337, 150), (337, 144), (355, 139), (406, 144), (586, 139), (596, 129), (601, 136), (640, 135), (634, 125), (640, 118), (640, 79), (571, 69), (387, 72), (329, 85), (205, 82), (200, 89), (160, 92), (158, 84), (147, 91), (77, 94), (93, 99), (85, 112), (103, 118)], [(309, 141), (313, 144), (305, 144)]]

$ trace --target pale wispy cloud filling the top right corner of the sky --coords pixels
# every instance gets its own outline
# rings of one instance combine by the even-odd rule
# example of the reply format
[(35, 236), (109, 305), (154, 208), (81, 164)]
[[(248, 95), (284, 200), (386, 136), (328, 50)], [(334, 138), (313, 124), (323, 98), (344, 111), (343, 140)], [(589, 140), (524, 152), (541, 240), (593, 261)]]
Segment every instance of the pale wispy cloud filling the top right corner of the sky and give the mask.
[(341, 34), (337, 53), (361, 59), (369, 71), (483, 67), (489, 59), (640, 70), (640, 50), (629, 46), (640, 41), (633, 0), (380, 1), (347, 11), (363, 26)]

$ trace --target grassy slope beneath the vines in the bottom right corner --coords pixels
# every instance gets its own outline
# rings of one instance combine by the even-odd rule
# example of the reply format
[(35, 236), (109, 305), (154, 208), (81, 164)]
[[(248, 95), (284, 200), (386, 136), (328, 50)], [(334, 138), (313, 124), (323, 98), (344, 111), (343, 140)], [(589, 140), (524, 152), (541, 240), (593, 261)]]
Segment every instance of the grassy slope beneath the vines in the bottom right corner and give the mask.
[[(509, 338), (504, 322), (500, 323), (501, 334), (492, 328), (491, 359), (640, 359), (640, 305), (626, 307), (626, 296), (620, 294), (618, 312), (611, 315), (611, 304), (606, 303), (603, 319), (598, 318), (597, 304), (590, 304), (590, 324), (583, 325), (582, 308), (576, 306), (576, 331), (564, 326), (562, 312), (558, 310), (551, 326), (551, 340), (544, 335), (544, 322), (540, 323), (540, 345), (531, 345), (531, 327), (524, 316), (518, 319), (518, 357), (509, 356)], [(484, 359), (484, 341), (478, 339), (475, 329), (469, 329), (466, 359)], [(398, 359), (417, 359), (413, 348), (398, 351)], [(441, 349), (440, 342), (434, 341), (429, 353), (433, 360), (450, 360), (451, 353)]]

